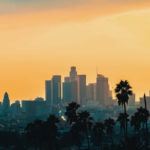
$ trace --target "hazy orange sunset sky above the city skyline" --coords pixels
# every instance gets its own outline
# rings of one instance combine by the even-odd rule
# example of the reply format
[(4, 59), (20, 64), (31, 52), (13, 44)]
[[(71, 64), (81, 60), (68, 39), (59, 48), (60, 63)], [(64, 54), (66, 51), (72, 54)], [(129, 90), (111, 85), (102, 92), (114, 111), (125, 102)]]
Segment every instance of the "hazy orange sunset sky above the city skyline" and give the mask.
[(0, 0), (0, 99), (44, 96), (44, 81), (71, 65), (111, 88), (150, 89), (149, 0)]

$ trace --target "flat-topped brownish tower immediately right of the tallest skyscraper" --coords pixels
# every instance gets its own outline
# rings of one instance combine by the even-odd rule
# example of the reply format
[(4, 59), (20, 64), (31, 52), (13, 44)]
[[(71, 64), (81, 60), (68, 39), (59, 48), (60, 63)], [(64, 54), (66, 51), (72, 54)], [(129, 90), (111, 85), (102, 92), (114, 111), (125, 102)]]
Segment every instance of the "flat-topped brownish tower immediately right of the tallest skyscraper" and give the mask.
[(78, 103), (83, 105), (86, 104), (86, 75), (78, 75)]

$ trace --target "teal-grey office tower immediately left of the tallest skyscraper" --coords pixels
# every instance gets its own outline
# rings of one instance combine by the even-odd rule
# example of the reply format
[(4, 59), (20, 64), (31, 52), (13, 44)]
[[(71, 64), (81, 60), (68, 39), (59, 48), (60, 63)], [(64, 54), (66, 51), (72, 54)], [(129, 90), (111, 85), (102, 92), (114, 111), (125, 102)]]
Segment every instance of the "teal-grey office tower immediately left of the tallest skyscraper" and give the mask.
[(70, 103), (71, 102), (71, 82), (70, 77), (65, 77), (63, 82), (63, 101)]

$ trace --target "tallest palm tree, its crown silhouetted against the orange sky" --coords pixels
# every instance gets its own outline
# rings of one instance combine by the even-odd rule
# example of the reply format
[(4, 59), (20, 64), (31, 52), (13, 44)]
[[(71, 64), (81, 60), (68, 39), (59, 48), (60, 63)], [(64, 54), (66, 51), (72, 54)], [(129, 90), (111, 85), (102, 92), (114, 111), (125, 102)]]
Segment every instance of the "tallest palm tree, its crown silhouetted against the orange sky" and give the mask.
[[(123, 106), (124, 114), (127, 114), (126, 105), (128, 104), (129, 97), (132, 95), (132, 87), (127, 80), (121, 80), (120, 83), (116, 85), (115, 93), (118, 99), (118, 104)], [(124, 127), (125, 136), (127, 137), (127, 120), (125, 120)]]

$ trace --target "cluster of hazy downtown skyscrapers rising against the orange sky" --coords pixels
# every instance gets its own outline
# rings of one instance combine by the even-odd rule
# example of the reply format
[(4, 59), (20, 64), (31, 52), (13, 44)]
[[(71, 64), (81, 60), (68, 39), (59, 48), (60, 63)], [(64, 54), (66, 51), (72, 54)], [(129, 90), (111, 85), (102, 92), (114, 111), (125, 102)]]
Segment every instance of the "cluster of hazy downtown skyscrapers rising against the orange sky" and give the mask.
[[(79, 104), (84, 104), (88, 101), (97, 101), (101, 105), (111, 105), (112, 100), (116, 99), (116, 97), (114, 95), (114, 89), (110, 86), (109, 77), (99, 74), (98, 72), (95, 76), (95, 81), (87, 82), (87, 77), (86, 74), (78, 73), (76, 66), (71, 66), (67, 76), (53, 74), (49, 79), (45, 80), (44, 95), (14, 100), (10, 98), (10, 102), (43, 98), (47, 101), (48, 105), (57, 104), (60, 100), (66, 103), (76, 101)], [(5, 93), (7, 94), (8, 91), (5, 91)], [(9, 94), (11, 97), (11, 93)], [(148, 96), (150, 96), (150, 93)], [(142, 97), (143, 96), (137, 98), (136, 93), (134, 93), (134, 100), (140, 100)]]

